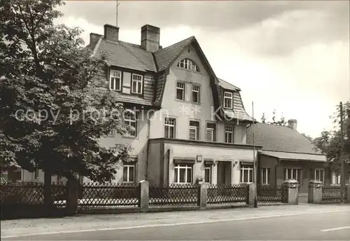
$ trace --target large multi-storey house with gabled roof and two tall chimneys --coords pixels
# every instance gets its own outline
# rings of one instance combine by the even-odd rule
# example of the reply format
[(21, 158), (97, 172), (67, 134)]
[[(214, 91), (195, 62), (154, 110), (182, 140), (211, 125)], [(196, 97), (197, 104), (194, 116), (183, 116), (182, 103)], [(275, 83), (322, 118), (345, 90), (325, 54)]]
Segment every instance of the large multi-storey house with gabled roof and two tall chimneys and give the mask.
[[(162, 48), (160, 29), (144, 25), (141, 43), (135, 45), (120, 41), (118, 27), (104, 25), (104, 35), (90, 34), (87, 48), (97, 57), (109, 53), (98, 78), (132, 110), (124, 115), (125, 125), (133, 128), (128, 135), (111, 132), (101, 138), (102, 146), (133, 147), (134, 162), (121, 164), (114, 181), (253, 181), (254, 151), (246, 144), (253, 120), (244, 110), (241, 90), (217, 78), (194, 36)], [(22, 176), (23, 181), (43, 181), (41, 171), (22, 171)]]

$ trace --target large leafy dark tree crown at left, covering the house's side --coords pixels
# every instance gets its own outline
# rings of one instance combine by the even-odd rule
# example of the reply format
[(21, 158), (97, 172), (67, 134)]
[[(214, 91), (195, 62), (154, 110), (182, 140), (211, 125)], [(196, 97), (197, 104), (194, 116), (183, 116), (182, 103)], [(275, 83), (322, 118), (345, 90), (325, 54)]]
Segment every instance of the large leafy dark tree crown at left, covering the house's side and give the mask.
[(1, 168), (44, 170), (109, 181), (129, 146), (99, 146), (99, 138), (127, 132), (123, 105), (95, 76), (106, 57), (84, 48), (81, 30), (54, 25), (61, 0), (0, 0)]

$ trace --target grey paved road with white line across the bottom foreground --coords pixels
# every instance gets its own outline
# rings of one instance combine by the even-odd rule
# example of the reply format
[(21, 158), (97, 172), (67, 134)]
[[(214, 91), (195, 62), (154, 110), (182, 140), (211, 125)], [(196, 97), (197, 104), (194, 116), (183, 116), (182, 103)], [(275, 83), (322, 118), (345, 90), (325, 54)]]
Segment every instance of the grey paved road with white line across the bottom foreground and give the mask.
[(1, 240), (350, 240), (350, 210), (68, 232)]

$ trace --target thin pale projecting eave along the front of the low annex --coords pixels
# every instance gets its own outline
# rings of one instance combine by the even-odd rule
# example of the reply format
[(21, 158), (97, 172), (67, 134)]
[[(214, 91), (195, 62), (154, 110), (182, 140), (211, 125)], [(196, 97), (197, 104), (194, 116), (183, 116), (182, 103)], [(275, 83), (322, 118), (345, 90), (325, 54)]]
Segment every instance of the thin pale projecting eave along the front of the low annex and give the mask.
[(310, 153), (293, 153), (293, 152), (281, 152), (281, 151), (261, 151), (261, 155), (271, 156), (279, 158), (279, 160), (294, 160), (302, 162), (316, 162), (325, 163), (326, 158), (324, 155), (310, 154)]

